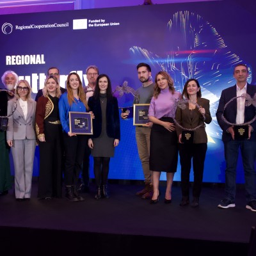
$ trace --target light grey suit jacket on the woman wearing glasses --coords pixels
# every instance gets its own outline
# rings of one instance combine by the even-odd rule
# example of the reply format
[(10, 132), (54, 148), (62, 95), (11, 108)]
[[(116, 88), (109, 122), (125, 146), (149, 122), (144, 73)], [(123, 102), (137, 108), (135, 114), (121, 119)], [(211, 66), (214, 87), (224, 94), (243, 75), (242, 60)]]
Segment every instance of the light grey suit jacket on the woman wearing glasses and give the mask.
[(28, 100), (28, 115), (26, 120), (20, 108), (19, 100), (17, 99), (8, 101), (7, 115), (10, 115), (14, 109), (13, 115), (11, 115), (8, 120), (8, 129), (6, 132), (7, 140), (35, 139), (35, 100)]

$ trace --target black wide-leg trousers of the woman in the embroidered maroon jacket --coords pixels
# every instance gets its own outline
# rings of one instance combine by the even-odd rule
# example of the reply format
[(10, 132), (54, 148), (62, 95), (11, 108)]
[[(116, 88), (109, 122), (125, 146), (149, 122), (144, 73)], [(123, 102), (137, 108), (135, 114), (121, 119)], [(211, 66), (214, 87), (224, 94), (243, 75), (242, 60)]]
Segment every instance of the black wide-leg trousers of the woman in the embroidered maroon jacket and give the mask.
[(45, 142), (39, 141), (40, 171), (38, 197), (61, 197), (62, 131), (61, 125), (45, 122)]

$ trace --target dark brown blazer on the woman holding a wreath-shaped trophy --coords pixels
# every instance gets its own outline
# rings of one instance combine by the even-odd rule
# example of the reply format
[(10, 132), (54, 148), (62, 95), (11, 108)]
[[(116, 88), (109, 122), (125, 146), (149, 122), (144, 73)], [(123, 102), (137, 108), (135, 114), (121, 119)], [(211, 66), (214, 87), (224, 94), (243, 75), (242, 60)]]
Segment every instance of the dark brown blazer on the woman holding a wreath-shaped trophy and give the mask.
[[(204, 123), (210, 124), (212, 121), (211, 113), (210, 113), (210, 102), (204, 98), (198, 98), (197, 104), (202, 106), (205, 109), (205, 120), (201, 113), (196, 108), (193, 110), (193, 116), (191, 116), (191, 110), (188, 108), (188, 104), (186, 104), (186, 109), (177, 108), (176, 110), (176, 121), (178, 124), (182, 125), (182, 127), (187, 129), (193, 129), (198, 125), (202, 125)], [(176, 125), (177, 135), (179, 136), (182, 132), (182, 129)], [(200, 128), (194, 131), (194, 143), (207, 143), (207, 134), (205, 132), (205, 124)]]

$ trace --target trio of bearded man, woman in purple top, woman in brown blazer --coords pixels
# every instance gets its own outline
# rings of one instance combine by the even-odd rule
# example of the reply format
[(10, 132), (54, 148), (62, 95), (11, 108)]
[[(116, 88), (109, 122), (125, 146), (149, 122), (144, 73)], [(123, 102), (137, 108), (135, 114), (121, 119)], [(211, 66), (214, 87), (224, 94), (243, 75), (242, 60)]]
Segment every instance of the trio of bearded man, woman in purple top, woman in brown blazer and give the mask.
[[(182, 201), (181, 206), (189, 204), (189, 173), (191, 159), (193, 159), (195, 182), (193, 188), (193, 202), (191, 206), (198, 206), (202, 188), (204, 159), (207, 149), (207, 136), (204, 122), (211, 122), (209, 100), (201, 98), (200, 85), (196, 79), (189, 79), (181, 93), (175, 91), (172, 77), (167, 72), (156, 74), (155, 83), (152, 81), (151, 68), (147, 63), (137, 66), (138, 78), (143, 83), (138, 89), (139, 104), (150, 103), (148, 110), (149, 121), (143, 126), (136, 126), (136, 141), (138, 152), (145, 175), (145, 188), (136, 195), (150, 198), (150, 204), (159, 202), (159, 179), (161, 172), (166, 172), (166, 191), (164, 203), (172, 202), (172, 183), (177, 171), (178, 154), (180, 151)], [(189, 85), (188, 85), (189, 84)], [(190, 102), (188, 108), (177, 108), (177, 102), (185, 97)], [(199, 109), (195, 104), (201, 104)], [(202, 114), (207, 118), (203, 118)], [(122, 118), (127, 113), (121, 114)], [(182, 143), (182, 129), (179, 126), (193, 128), (202, 124), (200, 131), (196, 131), (193, 143)], [(197, 135), (198, 134), (198, 135)], [(201, 135), (202, 134), (202, 135)], [(179, 142), (179, 143), (178, 143)], [(198, 148), (198, 154), (194, 154)], [(202, 149), (202, 150), (201, 150)]]

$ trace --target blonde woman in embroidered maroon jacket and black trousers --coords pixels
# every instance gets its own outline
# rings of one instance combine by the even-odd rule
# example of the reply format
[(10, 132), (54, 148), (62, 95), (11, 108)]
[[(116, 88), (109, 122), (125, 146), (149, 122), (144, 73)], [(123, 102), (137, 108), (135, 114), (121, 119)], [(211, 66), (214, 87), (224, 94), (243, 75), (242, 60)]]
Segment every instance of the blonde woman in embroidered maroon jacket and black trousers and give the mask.
[(36, 104), (36, 136), (40, 152), (38, 198), (61, 197), (62, 131), (58, 102), (61, 91), (55, 76), (45, 79), (43, 95)]

